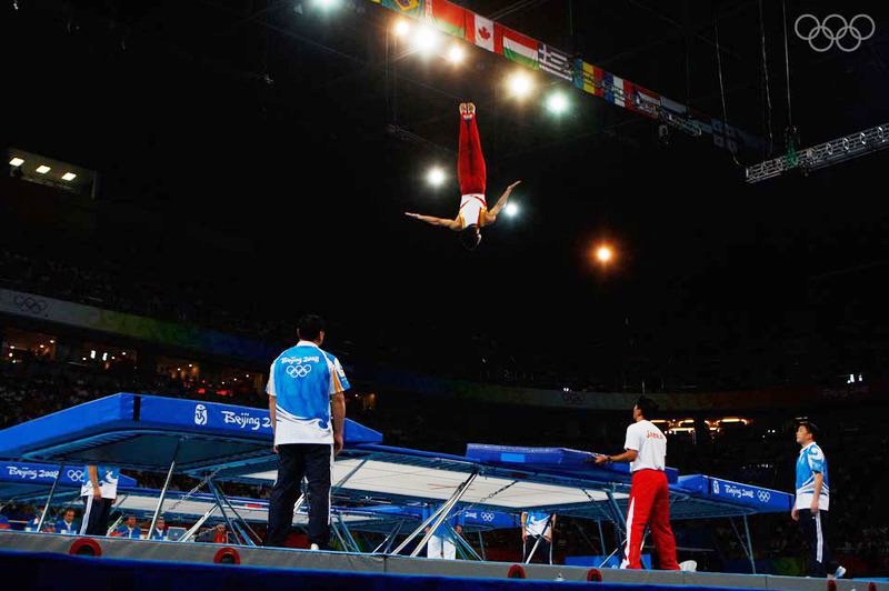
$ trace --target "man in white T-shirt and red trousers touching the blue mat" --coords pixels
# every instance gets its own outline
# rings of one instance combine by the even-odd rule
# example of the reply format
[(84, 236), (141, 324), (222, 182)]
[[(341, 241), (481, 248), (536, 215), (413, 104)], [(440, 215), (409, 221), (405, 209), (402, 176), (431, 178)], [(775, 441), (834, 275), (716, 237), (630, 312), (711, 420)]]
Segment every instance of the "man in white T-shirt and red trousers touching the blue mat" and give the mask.
[(670, 490), (663, 472), (667, 457), (667, 438), (647, 420), (657, 411), (650, 398), (641, 397), (632, 408), (633, 424), (627, 428), (627, 450), (620, 455), (598, 455), (597, 464), (630, 462), (632, 488), (627, 511), (627, 547), (621, 569), (641, 569), (640, 554), (646, 525), (658, 550), (660, 568), (679, 570), (676, 562), (676, 539), (670, 528)]

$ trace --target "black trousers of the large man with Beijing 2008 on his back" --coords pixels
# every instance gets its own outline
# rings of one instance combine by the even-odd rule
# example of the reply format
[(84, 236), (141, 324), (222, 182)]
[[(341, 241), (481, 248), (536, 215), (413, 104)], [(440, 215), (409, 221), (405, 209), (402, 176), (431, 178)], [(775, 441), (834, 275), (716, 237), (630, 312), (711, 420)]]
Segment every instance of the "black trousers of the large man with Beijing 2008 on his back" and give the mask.
[(333, 445), (288, 443), (278, 445), (278, 480), (269, 499), (266, 545), (282, 548), (293, 523), (293, 504), (302, 478), (309, 481), (309, 543), (328, 548), (330, 542), (330, 474)]

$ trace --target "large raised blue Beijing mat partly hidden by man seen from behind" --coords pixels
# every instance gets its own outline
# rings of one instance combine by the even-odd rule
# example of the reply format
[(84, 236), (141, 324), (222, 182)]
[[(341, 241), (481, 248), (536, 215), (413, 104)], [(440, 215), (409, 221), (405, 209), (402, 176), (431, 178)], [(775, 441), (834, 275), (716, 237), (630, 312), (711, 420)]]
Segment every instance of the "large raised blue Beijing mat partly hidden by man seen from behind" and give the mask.
[[(347, 419), (347, 445), (382, 434)], [(267, 409), (120, 393), (0, 431), (0, 457), (180, 471), (273, 457)]]

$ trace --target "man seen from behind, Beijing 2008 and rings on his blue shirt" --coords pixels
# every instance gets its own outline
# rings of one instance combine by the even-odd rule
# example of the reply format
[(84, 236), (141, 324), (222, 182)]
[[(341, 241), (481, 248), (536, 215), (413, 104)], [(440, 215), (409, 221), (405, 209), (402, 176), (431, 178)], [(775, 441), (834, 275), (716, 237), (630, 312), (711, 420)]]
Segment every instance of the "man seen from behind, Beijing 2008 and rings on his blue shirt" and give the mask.
[(306, 477), (309, 543), (319, 550), (330, 541), (330, 480), (333, 455), (343, 444), (349, 381), (337, 358), (321, 350), (324, 321), (320, 317), (302, 317), (297, 334), (299, 342), (278, 355), (269, 370), (267, 392), (278, 479), (269, 501), (266, 545), (284, 545)]

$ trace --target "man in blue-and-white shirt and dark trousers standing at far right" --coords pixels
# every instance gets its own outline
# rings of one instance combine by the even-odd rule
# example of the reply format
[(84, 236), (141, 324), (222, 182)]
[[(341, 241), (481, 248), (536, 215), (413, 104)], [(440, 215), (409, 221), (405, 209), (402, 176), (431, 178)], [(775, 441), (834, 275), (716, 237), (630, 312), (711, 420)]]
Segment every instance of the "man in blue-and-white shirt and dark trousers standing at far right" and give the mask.
[(800, 421), (797, 443), (802, 448), (797, 458), (797, 500), (790, 517), (799, 521), (809, 542), (809, 577), (842, 577), (846, 569), (830, 560), (827, 545), (827, 512), (830, 509), (830, 484), (827, 458), (815, 438), (818, 428), (811, 421)]

